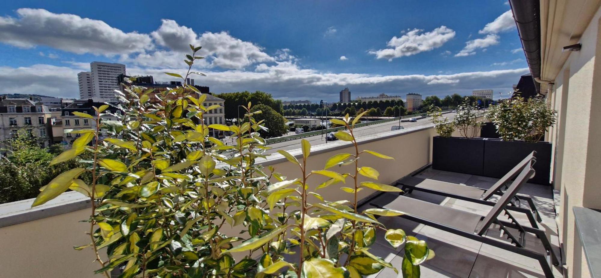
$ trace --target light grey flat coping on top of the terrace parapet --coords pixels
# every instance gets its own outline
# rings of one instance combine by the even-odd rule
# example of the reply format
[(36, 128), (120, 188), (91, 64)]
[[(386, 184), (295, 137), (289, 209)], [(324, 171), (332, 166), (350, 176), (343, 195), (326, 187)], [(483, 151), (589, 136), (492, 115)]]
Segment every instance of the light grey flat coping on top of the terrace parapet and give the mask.
[[(413, 132), (424, 131), (433, 127), (433, 124), (428, 124), (424, 126), (418, 126), (415, 128), (399, 129), (397, 131), (386, 131), (380, 134), (373, 134), (359, 138), (357, 140), (357, 143), (359, 145), (367, 144), (374, 141), (385, 140), (388, 138), (394, 138), (406, 134), (411, 134)], [(311, 154), (318, 155), (320, 153), (334, 152), (336, 150), (344, 149), (349, 146), (351, 146), (350, 142), (338, 140), (332, 143), (321, 144), (312, 147)], [(300, 149), (300, 146), (299, 149), (290, 150), (288, 152), (290, 152), (290, 154), (295, 157), (302, 156), (302, 150)], [(272, 153), (270, 154), (270, 158), (257, 159), (257, 164), (268, 166), (285, 161), (287, 161), (287, 159), (283, 155), (279, 153)], [(367, 200), (369, 198), (370, 196), (368, 196), (365, 199)], [(0, 228), (28, 221), (38, 220), (40, 218), (51, 217), (53, 215), (79, 211), (80, 209), (90, 208), (91, 206), (90, 199), (84, 196), (83, 194), (78, 193), (77, 191), (69, 191), (63, 193), (55, 199), (44, 203), (43, 205), (31, 208), (31, 204), (34, 202), (34, 200), (35, 199), (26, 199), (17, 202), (1, 204)]]

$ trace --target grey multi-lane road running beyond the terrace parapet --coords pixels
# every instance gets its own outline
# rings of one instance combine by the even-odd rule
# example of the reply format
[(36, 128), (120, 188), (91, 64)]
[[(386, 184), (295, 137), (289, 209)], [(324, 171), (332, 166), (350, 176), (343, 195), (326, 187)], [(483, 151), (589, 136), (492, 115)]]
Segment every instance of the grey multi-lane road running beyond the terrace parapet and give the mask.
[[(455, 114), (456, 113), (447, 113), (447, 114), (443, 114), (442, 116), (448, 117), (449, 119), (453, 119)], [(402, 122), (401, 126), (403, 126), (403, 128), (405, 128), (405, 129), (407, 129), (407, 128), (415, 128), (416, 126), (427, 125), (429, 123), (431, 123), (431, 118), (420, 119), (420, 120), (417, 120), (417, 122), (413, 122), (413, 123), (412, 122)], [(372, 135), (372, 134), (379, 134), (382, 132), (390, 131), (392, 126), (398, 126), (398, 121), (380, 123), (377, 125), (363, 126), (361, 128), (356, 128), (353, 133), (355, 134), (355, 136), (357, 138), (361, 138), (361, 137), (365, 137), (365, 136)], [(326, 144), (325, 134), (314, 135), (314, 136), (305, 137), (302, 139), (310, 141), (311, 146)], [(275, 144), (269, 144), (267, 146), (272, 147), (272, 149), (267, 150), (266, 153), (275, 153), (278, 150), (299, 149), (301, 147), (301, 139), (295, 139), (295, 140), (290, 140), (290, 141), (285, 141), (285, 142), (280, 142), (280, 143), (275, 143)]]

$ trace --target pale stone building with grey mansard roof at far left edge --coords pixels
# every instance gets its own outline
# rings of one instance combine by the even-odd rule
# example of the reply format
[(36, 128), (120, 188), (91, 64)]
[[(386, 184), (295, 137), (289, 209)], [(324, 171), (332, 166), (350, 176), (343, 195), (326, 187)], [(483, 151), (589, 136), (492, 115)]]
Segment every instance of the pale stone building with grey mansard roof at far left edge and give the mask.
[(0, 153), (6, 153), (5, 141), (26, 132), (35, 138), (41, 147), (49, 145), (47, 119), (50, 118), (48, 107), (31, 99), (0, 100)]

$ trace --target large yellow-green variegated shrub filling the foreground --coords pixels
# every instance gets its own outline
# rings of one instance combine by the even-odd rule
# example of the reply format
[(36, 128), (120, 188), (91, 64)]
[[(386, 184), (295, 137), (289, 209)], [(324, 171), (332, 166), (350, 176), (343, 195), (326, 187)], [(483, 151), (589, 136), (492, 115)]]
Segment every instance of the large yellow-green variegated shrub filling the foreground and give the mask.
[[(168, 75), (183, 81), (191, 74), (203, 75), (191, 70), (202, 57), (195, 56), (200, 48), (190, 47), (186, 75)], [(357, 192), (362, 188), (399, 191), (377, 183), (377, 170), (359, 165), (365, 155), (390, 159), (371, 150), (359, 151), (353, 126), (362, 115), (332, 121), (347, 127), (349, 132), (336, 136), (351, 142), (355, 152), (332, 156), (323, 170), (308, 172), (311, 146), (306, 140), (301, 160), (281, 151), (301, 172), (299, 178), (290, 179), (255, 161), (265, 158), (269, 149), (258, 132), (265, 129), (263, 122), (254, 119), (261, 111), (248, 103), (242, 122), (206, 125), (204, 114), (219, 107), (204, 107), (206, 94), (182, 84), (162, 92), (124, 84), (123, 93), (116, 91), (123, 113), (111, 114), (120, 120), (103, 119), (109, 105), (95, 107), (96, 115), (79, 113), (93, 120), (95, 128), (71, 131), (81, 137), (51, 162), (82, 153), (93, 156), (82, 161), (87, 166), (68, 170), (41, 188), (33, 206), (69, 189), (90, 198), (90, 242), (75, 249), (94, 250), (97, 274), (354, 278), (398, 267), (405, 277), (419, 277), (419, 264), (433, 256), (426, 242), (401, 229), (385, 229), (376, 219), (402, 212), (358, 211)], [(210, 137), (209, 129), (230, 132), (234, 144)], [(352, 173), (331, 170), (349, 164), (355, 166)], [(91, 182), (78, 179), (85, 172)], [(313, 176), (328, 180), (311, 191)], [(359, 176), (373, 181), (359, 183)], [(351, 202), (328, 202), (317, 193), (340, 182), (349, 184), (349, 179), (352, 186), (340, 189), (353, 194)], [(309, 196), (320, 202), (309, 203)], [(393, 266), (370, 253), (377, 229), (386, 230), (393, 247), (405, 244), (402, 265)]]

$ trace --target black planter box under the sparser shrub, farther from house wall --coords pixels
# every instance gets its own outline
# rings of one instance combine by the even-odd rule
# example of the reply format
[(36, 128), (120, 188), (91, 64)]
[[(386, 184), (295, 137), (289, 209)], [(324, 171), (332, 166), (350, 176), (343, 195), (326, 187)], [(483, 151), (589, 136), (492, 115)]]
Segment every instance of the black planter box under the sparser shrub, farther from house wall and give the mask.
[(484, 141), (484, 138), (434, 137), (432, 168), (482, 176)]

